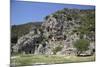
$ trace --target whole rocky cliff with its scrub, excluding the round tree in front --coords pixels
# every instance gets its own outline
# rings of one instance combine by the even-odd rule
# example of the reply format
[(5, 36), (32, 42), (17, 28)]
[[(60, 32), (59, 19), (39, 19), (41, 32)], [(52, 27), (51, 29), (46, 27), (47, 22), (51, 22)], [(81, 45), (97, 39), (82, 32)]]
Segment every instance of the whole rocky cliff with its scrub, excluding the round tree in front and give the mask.
[[(92, 54), (95, 49), (94, 10), (59, 10), (45, 17), (40, 28), (32, 29), (20, 37), (12, 47), (15, 53), (76, 55), (74, 43), (88, 39), (89, 49), (84, 54)], [(88, 25), (88, 27), (87, 27)]]

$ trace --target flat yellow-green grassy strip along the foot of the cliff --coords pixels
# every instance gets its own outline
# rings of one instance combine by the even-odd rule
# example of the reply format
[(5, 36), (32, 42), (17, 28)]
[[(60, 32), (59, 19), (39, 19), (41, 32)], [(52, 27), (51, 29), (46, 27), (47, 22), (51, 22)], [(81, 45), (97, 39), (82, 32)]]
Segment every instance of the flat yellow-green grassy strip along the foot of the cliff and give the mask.
[(37, 64), (75, 63), (95, 61), (95, 56), (18, 55), (11, 57), (11, 65), (26, 66)]

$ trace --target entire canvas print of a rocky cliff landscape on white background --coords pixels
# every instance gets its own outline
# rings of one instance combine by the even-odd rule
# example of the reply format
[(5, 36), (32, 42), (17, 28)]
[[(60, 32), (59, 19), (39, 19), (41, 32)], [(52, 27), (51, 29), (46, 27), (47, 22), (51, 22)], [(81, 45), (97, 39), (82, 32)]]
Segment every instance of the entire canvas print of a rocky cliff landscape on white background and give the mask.
[(11, 67), (95, 61), (95, 6), (10, 2)]

